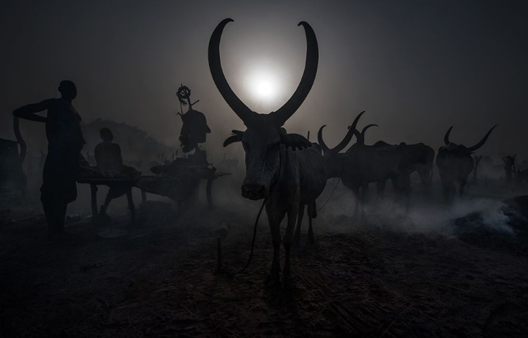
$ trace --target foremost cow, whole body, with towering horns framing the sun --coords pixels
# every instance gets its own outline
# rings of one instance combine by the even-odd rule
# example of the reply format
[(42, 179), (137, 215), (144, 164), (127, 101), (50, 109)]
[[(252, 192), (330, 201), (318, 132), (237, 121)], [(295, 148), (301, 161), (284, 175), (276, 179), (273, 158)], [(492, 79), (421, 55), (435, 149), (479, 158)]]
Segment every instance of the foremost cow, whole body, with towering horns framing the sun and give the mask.
[(222, 71), (220, 38), (224, 27), (232, 21), (227, 18), (218, 24), (208, 46), (208, 61), (213, 81), (226, 103), (246, 126), (245, 131), (234, 130), (233, 135), (225, 140), (224, 146), (233, 142), (242, 143), (246, 177), (241, 186), (241, 194), (253, 201), (264, 199), (273, 243), (273, 260), (270, 272), (265, 278), (267, 287), (280, 283), (280, 223), (285, 215), (288, 216), (287, 230), (282, 238), (285, 251), (282, 284), (289, 287), (290, 252), (297, 215), (303, 213), (305, 206), (308, 206), (308, 235), (313, 238), (311, 218), (314, 213), (310, 209), (325, 189), (327, 180), (320, 148), (299, 134), (287, 133), (282, 125), (297, 111), (312, 88), (318, 68), (318, 42), (308, 23), (302, 21), (298, 24), (304, 27), (307, 44), (306, 65), (301, 82), (284, 106), (269, 114), (259, 114), (251, 111), (234, 94)]

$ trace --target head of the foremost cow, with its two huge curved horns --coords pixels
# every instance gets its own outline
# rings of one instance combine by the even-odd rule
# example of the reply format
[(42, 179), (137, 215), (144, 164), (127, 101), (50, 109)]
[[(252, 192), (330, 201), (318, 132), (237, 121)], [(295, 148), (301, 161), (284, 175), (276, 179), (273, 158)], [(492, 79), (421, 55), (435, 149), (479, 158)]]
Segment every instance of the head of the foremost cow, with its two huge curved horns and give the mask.
[(244, 132), (233, 130), (233, 135), (225, 140), (224, 146), (233, 142), (242, 142), (246, 152), (246, 177), (242, 184), (242, 196), (248, 199), (263, 199), (270, 194), (270, 189), (279, 177), (281, 166), (281, 145), (292, 149), (305, 149), (312, 144), (298, 134), (288, 134), (282, 128), (288, 118), (303, 103), (312, 88), (318, 68), (319, 50), (315, 33), (308, 23), (302, 21), (306, 32), (306, 65), (301, 83), (293, 96), (284, 106), (269, 114), (258, 114), (251, 111), (232, 91), (225, 79), (220, 63), (220, 37), (227, 23), (232, 19), (222, 20), (215, 28), (209, 40), (208, 58), (210, 73), (220, 94), (234, 113), (244, 122)]

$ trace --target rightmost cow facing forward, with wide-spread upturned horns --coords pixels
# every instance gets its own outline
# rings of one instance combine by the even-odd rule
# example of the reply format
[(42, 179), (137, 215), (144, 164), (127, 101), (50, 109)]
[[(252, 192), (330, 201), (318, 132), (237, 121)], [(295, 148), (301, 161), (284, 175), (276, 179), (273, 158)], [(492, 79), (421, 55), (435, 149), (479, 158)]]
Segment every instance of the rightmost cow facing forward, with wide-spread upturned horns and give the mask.
[(456, 182), (459, 182), (460, 187), (458, 194), (460, 198), (464, 196), (465, 184), (467, 177), (474, 168), (472, 154), (474, 151), (484, 146), (489, 134), (495, 129), (496, 125), (492, 127), (479, 143), (474, 146), (466, 147), (462, 144), (454, 144), (449, 141), (449, 134), (453, 127), (449, 128), (444, 136), (444, 146), (441, 146), (436, 155), (436, 167), (438, 167), (440, 180), (442, 183), (442, 192), (444, 194), (444, 202), (451, 204), (456, 192)]

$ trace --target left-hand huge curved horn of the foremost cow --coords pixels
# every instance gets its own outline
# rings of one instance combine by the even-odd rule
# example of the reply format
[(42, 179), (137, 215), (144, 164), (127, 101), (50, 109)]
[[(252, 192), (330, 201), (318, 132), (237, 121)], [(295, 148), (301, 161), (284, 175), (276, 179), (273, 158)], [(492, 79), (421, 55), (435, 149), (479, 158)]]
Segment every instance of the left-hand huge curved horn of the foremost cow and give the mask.
[(230, 85), (225, 79), (224, 72), (222, 70), (222, 63), (220, 63), (220, 38), (222, 37), (222, 31), (224, 30), (227, 23), (233, 22), (233, 19), (227, 18), (222, 20), (216, 26), (209, 39), (209, 49), (208, 49), (208, 58), (209, 58), (209, 69), (210, 74), (213, 76), (213, 81), (218, 88), (218, 92), (222, 95), (227, 104), (231, 107), (235, 114), (244, 122), (244, 125), (248, 125), (251, 120), (251, 115), (253, 111), (249, 109), (232, 91)]

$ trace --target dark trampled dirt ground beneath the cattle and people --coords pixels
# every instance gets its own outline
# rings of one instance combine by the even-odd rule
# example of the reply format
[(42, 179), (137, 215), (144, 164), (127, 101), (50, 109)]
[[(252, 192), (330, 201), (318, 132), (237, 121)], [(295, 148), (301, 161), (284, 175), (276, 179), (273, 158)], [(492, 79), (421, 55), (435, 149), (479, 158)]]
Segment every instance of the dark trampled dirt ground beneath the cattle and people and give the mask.
[[(421, 227), (450, 222), (427, 208), (410, 221), (372, 211), (353, 220), (339, 187), (315, 220), (317, 244), (306, 244), (303, 227), (294, 287), (265, 289), (265, 215), (249, 268), (215, 273), (215, 230), (229, 225), (224, 269), (238, 270), (258, 202), (178, 214), (161, 199), (138, 207), (137, 227), (108, 239), (87, 218), (85, 187), (80, 196), (65, 242), (46, 239), (37, 198), (0, 196), (1, 337), (528, 337), (528, 256), (463, 242), (448, 226)], [(124, 201), (109, 213), (110, 227), (127, 226)]]

